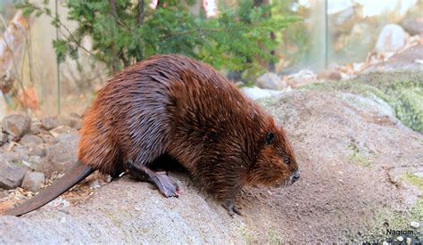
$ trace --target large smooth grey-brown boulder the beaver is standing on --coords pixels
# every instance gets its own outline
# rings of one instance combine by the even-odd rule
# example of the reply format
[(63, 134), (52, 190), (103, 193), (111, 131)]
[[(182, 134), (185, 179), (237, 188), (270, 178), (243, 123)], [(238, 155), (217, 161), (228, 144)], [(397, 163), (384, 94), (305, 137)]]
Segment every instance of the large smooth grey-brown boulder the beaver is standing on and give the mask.
[(236, 200), (245, 216), (228, 216), (186, 174), (171, 174), (183, 190), (178, 199), (123, 177), (77, 205), (0, 216), (0, 243), (362, 242), (381, 241), (386, 222), (410, 228), (415, 219), (404, 212), (421, 191), (391, 174), (423, 172), (423, 135), (404, 127), (386, 102), (301, 90), (261, 103), (286, 128), (302, 177), (286, 189), (245, 188)]

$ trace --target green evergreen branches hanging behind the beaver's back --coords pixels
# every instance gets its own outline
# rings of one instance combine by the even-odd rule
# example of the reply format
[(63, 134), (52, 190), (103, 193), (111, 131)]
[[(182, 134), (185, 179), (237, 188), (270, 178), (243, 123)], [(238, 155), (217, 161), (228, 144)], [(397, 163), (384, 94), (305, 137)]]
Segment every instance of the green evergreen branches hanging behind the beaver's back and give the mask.
[[(35, 12), (52, 18), (66, 29), (62, 19), (78, 27), (54, 40), (59, 61), (66, 56), (78, 61), (84, 37), (92, 38), (92, 53), (112, 73), (156, 53), (182, 53), (210, 63), (217, 69), (260, 72), (261, 61), (277, 61), (271, 50), (281, 37), (271, 33), (299, 20), (294, 14), (270, 14), (270, 4), (240, 0), (236, 8), (223, 10), (214, 18), (205, 12), (190, 12), (195, 1), (161, 1), (152, 8), (147, 1), (73, 0), (65, 2), (68, 15), (55, 16), (48, 1), (16, 4), (27, 15)], [(257, 45), (260, 44), (260, 45)]]

